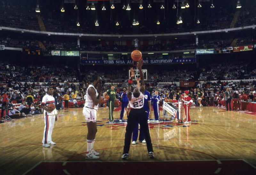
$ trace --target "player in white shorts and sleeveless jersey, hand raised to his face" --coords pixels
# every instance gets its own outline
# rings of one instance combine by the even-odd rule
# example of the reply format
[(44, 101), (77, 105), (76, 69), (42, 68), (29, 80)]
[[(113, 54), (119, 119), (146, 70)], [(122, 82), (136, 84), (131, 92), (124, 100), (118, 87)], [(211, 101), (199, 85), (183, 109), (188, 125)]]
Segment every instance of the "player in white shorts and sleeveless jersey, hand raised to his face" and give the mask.
[(99, 159), (100, 155), (94, 149), (95, 136), (97, 132), (97, 110), (101, 98), (102, 84), (99, 76), (92, 76), (92, 84), (86, 90), (85, 104), (83, 114), (87, 122), (87, 151), (85, 154), (86, 159)]

